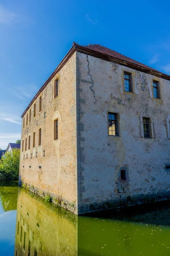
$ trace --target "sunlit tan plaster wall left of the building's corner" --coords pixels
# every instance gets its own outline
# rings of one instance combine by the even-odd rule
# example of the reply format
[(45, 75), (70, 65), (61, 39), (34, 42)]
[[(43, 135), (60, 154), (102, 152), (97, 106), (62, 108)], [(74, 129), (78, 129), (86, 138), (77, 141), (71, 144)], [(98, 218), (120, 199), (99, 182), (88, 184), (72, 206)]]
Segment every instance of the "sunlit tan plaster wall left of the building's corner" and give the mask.
[[(59, 77), (59, 96), (54, 99), (54, 80)], [(39, 112), (39, 97), (35, 100), (36, 116), (22, 126), (20, 181), (34, 187), (39, 194), (49, 193), (59, 201), (74, 204), (77, 212), (77, 143), (76, 143), (76, 52), (41, 93), (42, 110)], [(59, 138), (54, 140), (54, 120), (58, 119)], [(41, 145), (38, 146), (38, 131), (42, 129)], [(36, 133), (33, 148), (33, 133)], [(31, 148), (28, 150), (28, 137)], [(27, 150), (25, 143), (27, 138)], [(22, 141), (24, 148), (22, 151)], [(41, 169), (39, 168), (41, 166)]]

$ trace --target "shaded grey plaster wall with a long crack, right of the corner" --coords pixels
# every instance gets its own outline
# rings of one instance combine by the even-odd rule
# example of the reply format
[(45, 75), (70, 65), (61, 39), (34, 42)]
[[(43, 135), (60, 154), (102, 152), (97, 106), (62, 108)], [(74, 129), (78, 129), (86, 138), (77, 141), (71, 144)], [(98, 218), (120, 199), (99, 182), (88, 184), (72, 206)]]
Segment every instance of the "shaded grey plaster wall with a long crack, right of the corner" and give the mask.
[[(79, 91), (79, 213), (95, 205), (170, 191), (170, 81), (77, 53)], [(123, 90), (124, 70), (132, 73), (133, 93)], [(161, 99), (153, 98), (152, 80)], [(107, 112), (119, 114), (119, 137), (108, 136)], [(142, 117), (151, 119), (145, 139)], [(126, 168), (127, 182), (120, 182)], [(140, 200), (140, 199), (139, 199)]]

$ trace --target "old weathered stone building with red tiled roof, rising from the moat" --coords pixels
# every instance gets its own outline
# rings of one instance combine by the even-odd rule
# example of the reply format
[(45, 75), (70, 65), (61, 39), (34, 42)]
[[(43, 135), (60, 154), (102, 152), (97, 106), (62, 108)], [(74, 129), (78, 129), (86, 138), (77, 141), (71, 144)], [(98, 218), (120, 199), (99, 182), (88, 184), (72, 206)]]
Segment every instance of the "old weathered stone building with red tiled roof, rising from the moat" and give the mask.
[(73, 44), (23, 115), (20, 183), (76, 214), (166, 198), (170, 76)]

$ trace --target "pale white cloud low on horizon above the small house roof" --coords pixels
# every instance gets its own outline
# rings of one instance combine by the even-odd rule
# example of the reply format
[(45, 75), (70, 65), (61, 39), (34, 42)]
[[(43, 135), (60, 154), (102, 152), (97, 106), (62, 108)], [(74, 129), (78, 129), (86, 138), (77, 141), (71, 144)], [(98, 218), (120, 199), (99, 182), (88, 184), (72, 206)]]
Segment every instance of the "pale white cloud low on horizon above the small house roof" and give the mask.
[(8, 143), (16, 143), (17, 140), (20, 140), (21, 134), (15, 133), (15, 134), (5, 134), (0, 133), (0, 148), (6, 149), (8, 146)]

